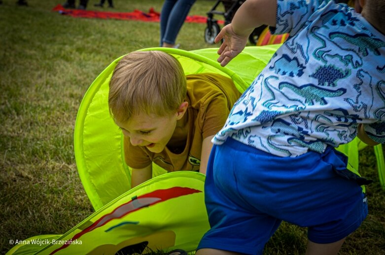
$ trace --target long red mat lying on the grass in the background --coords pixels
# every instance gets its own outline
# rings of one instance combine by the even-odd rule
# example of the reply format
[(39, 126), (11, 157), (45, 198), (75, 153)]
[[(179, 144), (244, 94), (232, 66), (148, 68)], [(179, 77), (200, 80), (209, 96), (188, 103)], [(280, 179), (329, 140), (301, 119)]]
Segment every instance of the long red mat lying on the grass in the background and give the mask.
[[(57, 11), (63, 15), (70, 15), (72, 17), (80, 18), (140, 20), (147, 22), (159, 22), (160, 17), (160, 13), (156, 12), (154, 8), (150, 8), (148, 12), (142, 12), (140, 10), (134, 10), (133, 12), (112, 12), (66, 9), (61, 4), (58, 4), (52, 9), (52, 11)], [(207, 17), (198, 15), (187, 16), (185, 22), (206, 23)], [(218, 23), (223, 24), (224, 22), (219, 20)]]

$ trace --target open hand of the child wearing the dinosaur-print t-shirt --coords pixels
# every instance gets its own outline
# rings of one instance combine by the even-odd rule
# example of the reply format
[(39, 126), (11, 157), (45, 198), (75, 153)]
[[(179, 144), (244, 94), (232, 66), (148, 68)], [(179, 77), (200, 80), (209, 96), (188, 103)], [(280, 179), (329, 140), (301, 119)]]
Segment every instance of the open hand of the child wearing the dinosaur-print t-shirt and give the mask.
[(217, 43), (222, 38), (224, 38), (224, 41), (218, 50), (218, 54), (220, 55), (218, 62), (224, 67), (242, 52), (246, 46), (248, 36), (237, 35), (233, 31), (232, 24), (229, 24), (219, 32), (214, 42)]

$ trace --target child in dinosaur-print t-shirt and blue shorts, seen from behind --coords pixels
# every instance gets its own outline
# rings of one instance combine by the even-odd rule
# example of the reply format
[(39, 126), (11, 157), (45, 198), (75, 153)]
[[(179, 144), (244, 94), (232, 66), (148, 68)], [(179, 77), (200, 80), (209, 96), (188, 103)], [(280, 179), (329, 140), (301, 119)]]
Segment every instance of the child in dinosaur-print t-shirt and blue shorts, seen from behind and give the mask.
[(365, 180), (334, 147), (385, 143), (385, 0), (355, 9), (247, 0), (215, 38), (224, 66), (255, 27), (289, 33), (212, 140), (197, 255), (260, 255), (282, 220), (308, 228), (307, 254), (337, 254), (367, 216)]

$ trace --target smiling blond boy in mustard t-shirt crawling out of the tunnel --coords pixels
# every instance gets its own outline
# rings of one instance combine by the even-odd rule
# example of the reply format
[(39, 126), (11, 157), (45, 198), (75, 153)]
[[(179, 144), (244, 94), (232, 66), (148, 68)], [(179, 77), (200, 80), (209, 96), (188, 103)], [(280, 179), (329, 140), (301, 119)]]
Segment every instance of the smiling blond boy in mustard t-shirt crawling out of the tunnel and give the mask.
[(108, 105), (124, 135), (131, 187), (151, 179), (152, 162), (168, 172), (205, 174), (210, 140), (240, 95), (225, 76), (186, 76), (180, 63), (162, 51), (124, 56), (110, 80)]

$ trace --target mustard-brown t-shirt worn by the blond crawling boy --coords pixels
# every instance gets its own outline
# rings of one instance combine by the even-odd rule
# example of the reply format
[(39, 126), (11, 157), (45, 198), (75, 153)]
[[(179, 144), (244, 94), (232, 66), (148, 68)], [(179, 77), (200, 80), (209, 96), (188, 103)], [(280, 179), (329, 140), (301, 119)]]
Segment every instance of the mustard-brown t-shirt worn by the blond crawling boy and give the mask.
[(241, 96), (233, 81), (220, 74), (187, 75), (188, 135), (186, 145), (179, 153), (167, 146), (160, 153), (144, 146), (132, 146), (124, 137), (126, 163), (131, 168), (144, 168), (154, 162), (168, 172), (198, 171), (202, 142), (215, 135), (225, 124), (234, 103)]

